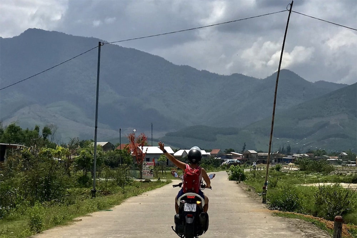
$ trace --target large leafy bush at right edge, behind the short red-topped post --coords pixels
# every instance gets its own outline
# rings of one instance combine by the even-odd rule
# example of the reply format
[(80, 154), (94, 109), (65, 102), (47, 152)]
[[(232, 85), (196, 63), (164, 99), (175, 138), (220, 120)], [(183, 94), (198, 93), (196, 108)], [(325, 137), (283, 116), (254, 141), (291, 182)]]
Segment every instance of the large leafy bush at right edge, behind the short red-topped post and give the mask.
[(314, 197), (317, 215), (330, 221), (336, 216), (344, 216), (357, 210), (357, 194), (342, 188), (340, 184), (320, 186)]

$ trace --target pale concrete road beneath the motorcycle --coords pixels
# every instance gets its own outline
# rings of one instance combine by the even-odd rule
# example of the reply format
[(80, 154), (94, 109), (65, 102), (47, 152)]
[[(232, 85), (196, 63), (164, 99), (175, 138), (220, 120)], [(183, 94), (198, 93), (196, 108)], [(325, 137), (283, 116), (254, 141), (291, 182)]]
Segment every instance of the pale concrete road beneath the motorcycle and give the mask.
[[(178, 237), (171, 225), (174, 196), (179, 189), (173, 189), (172, 184), (127, 199), (112, 211), (99, 211), (78, 218), (71, 225), (46, 230), (35, 237)], [(330, 237), (307, 222), (272, 216), (261, 201), (244, 191), (241, 184), (228, 181), (226, 172), (216, 173), (212, 187), (213, 190), (205, 190), (210, 199), (210, 228), (200, 236), (202, 238)]]

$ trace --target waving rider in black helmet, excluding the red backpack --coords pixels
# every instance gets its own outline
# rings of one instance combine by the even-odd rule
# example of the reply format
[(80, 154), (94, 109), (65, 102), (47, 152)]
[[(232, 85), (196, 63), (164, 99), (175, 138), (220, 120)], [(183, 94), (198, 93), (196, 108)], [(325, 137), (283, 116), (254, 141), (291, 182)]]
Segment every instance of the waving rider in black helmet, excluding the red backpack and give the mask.
[[(202, 153), (201, 150), (199, 149), (199, 147), (194, 146), (192, 147), (187, 155), (189, 164), (186, 164), (184, 162), (181, 162), (179, 160), (176, 160), (176, 158), (168, 153), (165, 148), (164, 148), (164, 143), (162, 143), (161, 141), (159, 142), (159, 148), (162, 150), (162, 152), (165, 154), (165, 156), (175, 165), (177, 166), (177, 168), (182, 169), (185, 172), (186, 169), (186, 165), (190, 166), (191, 168), (195, 169), (198, 166), (198, 164), (200, 163), (201, 159), (202, 159)], [(211, 188), (211, 181), (210, 178), (207, 175), (207, 172), (205, 169), (201, 168), (200, 169), (201, 174), (199, 176), (199, 180), (201, 180), (203, 178), (203, 180), (205, 180), (206, 182), (206, 188)], [(179, 205), (177, 205), (177, 198), (179, 198), (181, 195), (184, 194), (183, 189), (180, 190), (179, 194), (177, 194), (177, 196), (175, 197), (175, 210), (176, 210), (176, 214), (179, 213)], [(203, 192), (201, 190), (198, 191), (198, 195), (201, 196), (203, 199), (205, 199), (205, 206), (203, 206), (203, 213), (207, 213), (208, 210), (208, 197), (203, 194)]]

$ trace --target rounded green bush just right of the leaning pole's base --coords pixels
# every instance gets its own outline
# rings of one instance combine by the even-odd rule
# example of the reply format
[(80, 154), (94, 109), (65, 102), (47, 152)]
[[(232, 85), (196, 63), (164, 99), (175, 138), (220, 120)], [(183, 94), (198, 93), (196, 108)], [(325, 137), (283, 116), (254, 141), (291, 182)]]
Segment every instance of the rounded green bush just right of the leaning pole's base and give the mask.
[(299, 213), (302, 210), (299, 193), (293, 187), (282, 187), (268, 193), (267, 205), (271, 210), (291, 211)]

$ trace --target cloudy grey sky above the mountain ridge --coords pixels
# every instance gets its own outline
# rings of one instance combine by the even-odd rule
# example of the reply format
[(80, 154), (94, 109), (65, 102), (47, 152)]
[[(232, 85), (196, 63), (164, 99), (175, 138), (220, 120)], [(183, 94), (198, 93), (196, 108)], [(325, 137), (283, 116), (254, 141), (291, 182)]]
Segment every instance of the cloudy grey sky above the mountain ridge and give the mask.
[[(29, 28), (107, 42), (286, 10), (286, 0), (1, 0), (0, 36)], [(293, 11), (357, 29), (355, 0), (295, 0)], [(277, 71), (288, 12), (118, 43), (177, 65), (265, 78)], [(95, 45), (93, 45), (95, 46)], [(67, 59), (64, 59), (67, 60)], [(305, 80), (357, 82), (357, 31), (292, 13), (282, 68)]]

